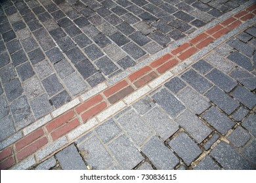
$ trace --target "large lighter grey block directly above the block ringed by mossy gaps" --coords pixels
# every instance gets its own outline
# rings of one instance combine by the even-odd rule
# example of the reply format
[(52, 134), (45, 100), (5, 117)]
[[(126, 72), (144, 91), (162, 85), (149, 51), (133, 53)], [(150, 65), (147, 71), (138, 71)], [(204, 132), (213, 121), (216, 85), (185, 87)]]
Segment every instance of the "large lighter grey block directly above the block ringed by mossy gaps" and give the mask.
[(190, 110), (185, 110), (178, 118), (175, 119), (181, 127), (198, 142), (201, 143), (211, 133), (211, 129)]

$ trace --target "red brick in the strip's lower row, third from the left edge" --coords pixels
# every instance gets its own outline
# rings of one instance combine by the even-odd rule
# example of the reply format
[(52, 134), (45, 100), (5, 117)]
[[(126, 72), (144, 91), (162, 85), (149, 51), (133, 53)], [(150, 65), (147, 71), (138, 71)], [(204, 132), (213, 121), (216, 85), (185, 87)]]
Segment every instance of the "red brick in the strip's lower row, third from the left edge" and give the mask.
[(79, 125), (79, 122), (77, 119), (72, 120), (71, 122), (68, 122), (67, 124), (63, 125), (62, 127), (59, 127), (58, 129), (54, 130), (51, 133), (51, 136), (53, 138), (53, 141), (61, 137), (62, 135), (65, 135), (69, 131), (72, 131), (75, 127)]

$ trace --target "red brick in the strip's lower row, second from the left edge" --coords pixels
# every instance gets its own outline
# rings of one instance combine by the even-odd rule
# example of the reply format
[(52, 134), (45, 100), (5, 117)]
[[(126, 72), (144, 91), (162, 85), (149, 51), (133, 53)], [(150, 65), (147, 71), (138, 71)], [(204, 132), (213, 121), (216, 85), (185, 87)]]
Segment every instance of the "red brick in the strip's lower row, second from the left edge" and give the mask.
[(30, 144), (20, 152), (17, 152), (16, 157), (20, 161), (21, 159), (24, 159), (39, 150), (39, 148), (43, 147), (45, 144), (47, 144), (47, 142), (47, 137), (43, 137), (42, 139), (33, 142), (33, 144)]

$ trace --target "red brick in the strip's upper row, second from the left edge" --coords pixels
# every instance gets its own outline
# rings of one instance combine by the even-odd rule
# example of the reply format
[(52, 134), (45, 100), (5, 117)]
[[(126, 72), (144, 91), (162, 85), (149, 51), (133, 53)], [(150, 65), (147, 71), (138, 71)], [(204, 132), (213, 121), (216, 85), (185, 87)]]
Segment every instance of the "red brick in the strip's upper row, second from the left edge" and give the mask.
[(27, 146), (31, 142), (35, 141), (39, 137), (42, 137), (45, 133), (43, 132), (42, 128), (37, 129), (36, 131), (33, 131), (30, 135), (27, 135), (20, 141), (16, 142), (15, 147), (16, 150), (21, 150), (24, 148), (24, 146)]

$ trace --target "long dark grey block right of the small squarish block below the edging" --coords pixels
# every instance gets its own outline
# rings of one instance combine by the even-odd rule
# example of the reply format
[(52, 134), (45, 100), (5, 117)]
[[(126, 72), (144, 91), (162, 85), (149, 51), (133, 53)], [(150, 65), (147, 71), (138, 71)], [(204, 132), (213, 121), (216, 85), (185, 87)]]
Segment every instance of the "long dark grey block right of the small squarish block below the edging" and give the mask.
[(206, 90), (211, 88), (212, 84), (202, 75), (199, 75), (193, 69), (190, 69), (181, 78), (184, 79), (188, 84), (190, 84), (199, 93), (204, 93)]

